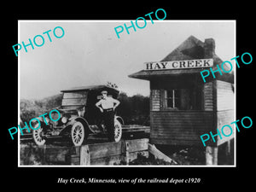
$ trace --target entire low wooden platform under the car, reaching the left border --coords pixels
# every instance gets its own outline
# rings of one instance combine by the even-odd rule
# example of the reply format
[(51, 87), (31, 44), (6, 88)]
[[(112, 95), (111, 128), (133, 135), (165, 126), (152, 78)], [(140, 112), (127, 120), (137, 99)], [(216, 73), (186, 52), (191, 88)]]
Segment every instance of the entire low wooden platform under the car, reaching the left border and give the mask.
[(93, 143), (81, 147), (20, 144), (22, 165), (105, 166), (129, 165), (141, 154), (148, 157), (148, 138), (122, 140), (119, 143)]

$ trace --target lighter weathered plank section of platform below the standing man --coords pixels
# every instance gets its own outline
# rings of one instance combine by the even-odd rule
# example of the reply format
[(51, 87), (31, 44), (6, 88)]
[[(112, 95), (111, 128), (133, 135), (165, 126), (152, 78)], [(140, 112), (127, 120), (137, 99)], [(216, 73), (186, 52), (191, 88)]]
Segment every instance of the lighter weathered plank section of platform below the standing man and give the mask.
[(148, 138), (84, 145), (80, 154), (72, 157), (71, 165), (78, 165), (78, 157), (81, 166), (129, 165), (137, 154), (148, 157)]

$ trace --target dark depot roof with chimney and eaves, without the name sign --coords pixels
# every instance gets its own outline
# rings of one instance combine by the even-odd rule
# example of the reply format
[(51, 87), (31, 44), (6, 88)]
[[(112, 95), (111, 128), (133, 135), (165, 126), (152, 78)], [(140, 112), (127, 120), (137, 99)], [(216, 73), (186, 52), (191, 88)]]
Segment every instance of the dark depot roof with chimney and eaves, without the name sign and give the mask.
[[(195, 60), (195, 59), (213, 59), (212, 70), (217, 70), (217, 65), (223, 63), (223, 61), (215, 54), (215, 42), (214, 39), (208, 38), (205, 40), (205, 43), (201, 40), (190, 36), (182, 44), (180, 44), (176, 49), (174, 49), (169, 55), (161, 61), (185, 61), (185, 60)], [(221, 67), (220, 67), (221, 68)], [(163, 77), (168, 75), (186, 75), (186, 74), (198, 74), (204, 69), (209, 69), (209, 67), (201, 68), (184, 68), (184, 69), (172, 69), (172, 70), (141, 70), (137, 73), (132, 73), (129, 75), (130, 78), (135, 79), (145, 79), (150, 80), (155, 77)], [(226, 71), (229, 71), (229, 68), (224, 66)], [(215, 73), (216, 79), (224, 80), (230, 83), (234, 83), (234, 73), (224, 73), (221, 69), (223, 75)]]

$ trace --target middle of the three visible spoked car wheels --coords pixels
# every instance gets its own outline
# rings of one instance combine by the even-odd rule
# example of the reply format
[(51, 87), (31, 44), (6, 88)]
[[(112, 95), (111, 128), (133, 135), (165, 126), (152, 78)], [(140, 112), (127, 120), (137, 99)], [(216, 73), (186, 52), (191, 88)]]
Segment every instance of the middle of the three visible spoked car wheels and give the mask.
[(84, 142), (85, 130), (84, 125), (77, 121), (71, 128), (71, 138), (74, 146), (81, 146)]

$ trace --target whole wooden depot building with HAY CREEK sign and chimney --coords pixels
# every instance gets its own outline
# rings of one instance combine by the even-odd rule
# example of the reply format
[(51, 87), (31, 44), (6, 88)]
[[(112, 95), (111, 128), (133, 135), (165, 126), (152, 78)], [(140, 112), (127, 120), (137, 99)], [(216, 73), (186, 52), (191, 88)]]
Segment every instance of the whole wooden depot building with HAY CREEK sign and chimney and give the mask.
[[(201, 135), (216, 134), (235, 120), (233, 73), (215, 73), (216, 79), (209, 76), (206, 83), (201, 78), (202, 70), (215, 71), (222, 62), (214, 39), (201, 42), (190, 36), (162, 61), (146, 62), (143, 70), (129, 75), (150, 82), (150, 143), (203, 146)], [(206, 142), (212, 164), (217, 164), (218, 146), (228, 142), (230, 147), (232, 138)]]

